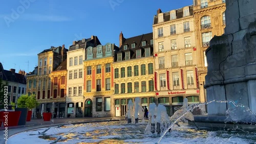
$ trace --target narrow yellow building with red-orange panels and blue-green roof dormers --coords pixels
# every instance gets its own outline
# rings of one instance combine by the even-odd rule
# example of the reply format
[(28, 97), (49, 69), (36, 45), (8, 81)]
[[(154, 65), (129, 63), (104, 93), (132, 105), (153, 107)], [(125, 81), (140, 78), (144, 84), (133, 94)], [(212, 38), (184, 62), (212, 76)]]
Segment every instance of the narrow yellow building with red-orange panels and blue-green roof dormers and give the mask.
[(89, 46), (84, 60), (84, 116), (114, 116), (113, 56), (118, 51), (115, 44)]

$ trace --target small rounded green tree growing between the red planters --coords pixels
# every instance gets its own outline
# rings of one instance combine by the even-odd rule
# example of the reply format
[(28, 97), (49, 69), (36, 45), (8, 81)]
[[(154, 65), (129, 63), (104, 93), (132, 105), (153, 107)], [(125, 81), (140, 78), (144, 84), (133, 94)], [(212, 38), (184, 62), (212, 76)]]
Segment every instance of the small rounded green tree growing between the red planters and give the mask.
[(17, 107), (18, 108), (28, 108), (28, 109), (33, 109), (37, 107), (39, 103), (36, 101), (35, 95), (22, 95), (18, 98), (17, 101)]

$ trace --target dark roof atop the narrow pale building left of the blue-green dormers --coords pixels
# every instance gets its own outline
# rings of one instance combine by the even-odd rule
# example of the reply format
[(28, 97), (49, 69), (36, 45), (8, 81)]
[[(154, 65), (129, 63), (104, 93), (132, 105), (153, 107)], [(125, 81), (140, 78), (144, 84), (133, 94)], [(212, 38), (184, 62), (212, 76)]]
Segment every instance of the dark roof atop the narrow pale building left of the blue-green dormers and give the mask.
[(95, 46), (101, 44), (99, 39), (97, 38), (97, 36), (92, 36), (92, 37), (96, 38), (96, 40), (93, 38), (84, 39), (84, 42), (82, 41), (82, 39), (78, 40), (78, 41), (76, 41), (76, 44), (72, 44), (69, 46), (69, 51), (76, 50), (77, 44), (79, 45), (78, 49), (87, 49), (87, 47), (89, 47), (89, 46), (95, 47)]

